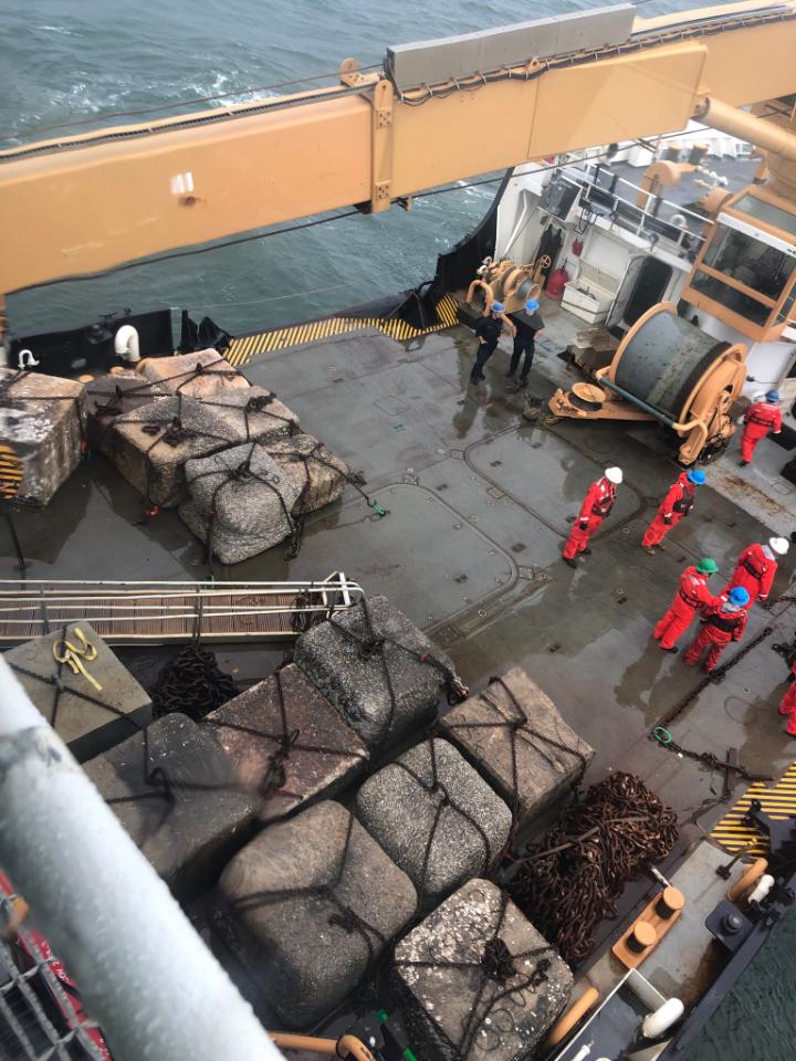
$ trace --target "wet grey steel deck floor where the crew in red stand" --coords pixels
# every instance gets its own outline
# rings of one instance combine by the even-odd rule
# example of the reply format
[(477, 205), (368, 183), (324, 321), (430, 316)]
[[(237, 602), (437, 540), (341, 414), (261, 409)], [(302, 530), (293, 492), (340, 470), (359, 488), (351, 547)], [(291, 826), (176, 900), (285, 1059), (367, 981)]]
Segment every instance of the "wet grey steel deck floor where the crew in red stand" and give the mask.
[[(579, 326), (546, 308), (531, 380), (544, 396), (566, 381), (556, 354), (567, 330)], [(308, 522), (297, 558), (287, 561), (279, 546), (224, 569), (226, 577), (324, 578), (344, 570), (429, 630), (471, 686), (524, 668), (598, 749), (593, 779), (607, 769), (638, 773), (688, 817), (721, 792), (722, 778), (662, 750), (649, 729), (703, 674), (660, 652), (651, 629), (683, 566), (712, 555), (721, 569), (718, 591), (740, 550), (767, 528), (705, 487), (667, 553), (645, 554), (641, 534), (678, 471), (661, 452), (660, 429), (526, 424), (521, 400), (505, 393), (506, 348), (504, 339), (479, 391), (468, 388), (474, 342), (463, 327), (406, 345), (358, 333), (248, 366), (252, 382), (275, 390), (305, 430), (364, 471), (370, 496), (389, 515), (379, 519), (349, 490), (342, 504)], [(567, 517), (606, 464), (625, 470), (619, 504), (594, 554), (573, 571), (559, 560)], [(96, 456), (46, 510), (18, 515), (31, 577), (205, 578), (202, 546), (177, 515), (137, 525), (143, 510), (135, 491)], [(775, 591), (790, 569), (789, 563), (781, 568)], [(0, 577), (15, 574), (2, 534)], [(767, 624), (774, 633), (672, 725), (680, 744), (720, 758), (736, 747), (756, 773), (776, 774), (792, 761), (796, 742), (776, 711), (785, 665), (771, 649), (789, 640), (796, 624), (784, 608), (753, 611), (746, 638)], [(220, 655), (222, 665), (229, 659), (240, 668), (235, 676), (256, 677), (275, 654), (252, 648)], [(725, 809), (710, 809), (700, 823), (709, 826)]]

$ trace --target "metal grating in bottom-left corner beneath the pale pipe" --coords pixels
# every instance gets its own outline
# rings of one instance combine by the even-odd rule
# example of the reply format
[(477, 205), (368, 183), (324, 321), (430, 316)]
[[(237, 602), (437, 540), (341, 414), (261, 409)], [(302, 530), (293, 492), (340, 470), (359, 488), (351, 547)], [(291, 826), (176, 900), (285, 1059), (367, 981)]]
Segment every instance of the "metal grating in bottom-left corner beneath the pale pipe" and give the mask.
[(17, 924), (18, 896), (0, 873), (0, 1058), (112, 1061), (74, 983), (46, 941)]

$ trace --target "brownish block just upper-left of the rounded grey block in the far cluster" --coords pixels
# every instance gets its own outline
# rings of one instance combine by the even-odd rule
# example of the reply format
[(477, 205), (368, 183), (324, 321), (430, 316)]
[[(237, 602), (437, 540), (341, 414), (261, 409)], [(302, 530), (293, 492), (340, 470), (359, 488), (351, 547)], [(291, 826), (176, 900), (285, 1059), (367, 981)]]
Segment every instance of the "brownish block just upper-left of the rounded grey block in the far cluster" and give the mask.
[(239, 442), (239, 431), (211, 406), (166, 398), (117, 417), (102, 451), (124, 477), (161, 508), (185, 500), (185, 463)]

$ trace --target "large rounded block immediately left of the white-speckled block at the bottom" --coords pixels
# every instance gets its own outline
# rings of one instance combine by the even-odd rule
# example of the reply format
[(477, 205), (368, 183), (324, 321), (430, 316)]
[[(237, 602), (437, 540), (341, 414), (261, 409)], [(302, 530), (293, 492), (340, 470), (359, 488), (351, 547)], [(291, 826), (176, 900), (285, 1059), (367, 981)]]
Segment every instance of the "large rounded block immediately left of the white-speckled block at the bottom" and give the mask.
[(290, 1028), (342, 1002), (416, 910), (409, 878), (328, 800), (264, 829), (219, 894), (218, 932)]

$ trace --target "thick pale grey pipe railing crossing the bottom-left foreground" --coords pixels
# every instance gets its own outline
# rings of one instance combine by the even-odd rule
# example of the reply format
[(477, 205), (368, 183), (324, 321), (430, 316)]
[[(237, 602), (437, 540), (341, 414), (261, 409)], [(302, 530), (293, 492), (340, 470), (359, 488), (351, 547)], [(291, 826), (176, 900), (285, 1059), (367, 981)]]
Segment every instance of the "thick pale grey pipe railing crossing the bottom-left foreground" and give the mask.
[(0, 864), (117, 1061), (282, 1057), (1, 658)]

